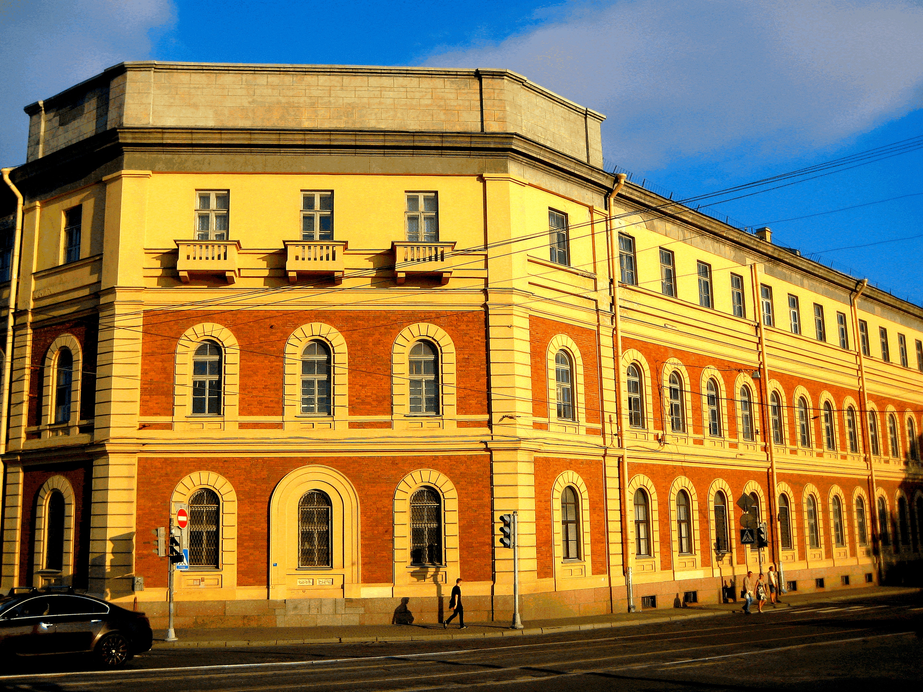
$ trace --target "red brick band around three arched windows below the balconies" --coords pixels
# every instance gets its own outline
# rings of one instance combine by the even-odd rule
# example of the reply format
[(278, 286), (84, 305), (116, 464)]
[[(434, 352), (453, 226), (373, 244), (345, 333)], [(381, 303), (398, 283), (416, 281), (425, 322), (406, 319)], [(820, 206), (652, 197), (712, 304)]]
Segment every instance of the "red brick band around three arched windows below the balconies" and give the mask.
[(485, 415), (486, 340), (481, 311), (217, 311), (149, 312), (142, 343), (141, 415), (173, 414), (174, 353), (187, 328), (214, 322), (237, 339), (240, 354), (240, 414), (282, 415), (282, 356), (296, 328), (323, 322), (337, 328), (349, 351), (352, 415), (390, 415), (390, 357), (402, 329), (418, 322), (443, 328), (455, 343), (458, 413)]

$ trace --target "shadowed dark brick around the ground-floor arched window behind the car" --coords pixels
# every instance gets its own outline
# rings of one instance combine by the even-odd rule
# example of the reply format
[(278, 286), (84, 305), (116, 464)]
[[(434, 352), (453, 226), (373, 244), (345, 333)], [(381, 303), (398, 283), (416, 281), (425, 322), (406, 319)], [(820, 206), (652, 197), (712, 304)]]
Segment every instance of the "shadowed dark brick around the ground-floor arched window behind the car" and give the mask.
[(90, 559), (90, 492), (92, 466), (68, 462), (30, 466), (23, 470), (22, 534), (19, 541), (19, 586), (31, 586), (35, 554), (35, 509), (39, 490), (52, 476), (64, 476), (74, 488), (74, 587), (86, 589)]

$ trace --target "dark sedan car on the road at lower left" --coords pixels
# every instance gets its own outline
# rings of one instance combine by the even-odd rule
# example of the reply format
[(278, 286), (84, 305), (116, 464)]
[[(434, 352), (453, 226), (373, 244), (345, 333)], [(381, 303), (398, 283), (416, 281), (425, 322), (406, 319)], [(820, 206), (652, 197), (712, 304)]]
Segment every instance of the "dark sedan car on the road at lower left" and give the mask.
[(143, 613), (92, 596), (14, 590), (0, 598), (0, 658), (91, 652), (116, 668), (151, 643)]

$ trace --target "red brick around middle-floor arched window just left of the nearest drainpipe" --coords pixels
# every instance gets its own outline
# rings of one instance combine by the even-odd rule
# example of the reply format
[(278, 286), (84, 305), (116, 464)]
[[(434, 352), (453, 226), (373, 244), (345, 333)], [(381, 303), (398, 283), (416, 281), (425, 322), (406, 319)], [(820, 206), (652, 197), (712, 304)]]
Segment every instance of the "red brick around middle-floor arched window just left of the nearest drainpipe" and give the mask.
[[(529, 317), (529, 338), (532, 346), (532, 411), (533, 416), (548, 417), (548, 343), (558, 334), (565, 334), (577, 344), (583, 360), (583, 391), (586, 396), (586, 421), (599, 424), (599, 360), (596, 351), (596, 332), (593, 329), (574, 327), (544, 317)], [(576, 376), (576, 374), (575, 374)], [(574, 385), (576, 386), (576, 382)], [(577, 391), (574, 389), (574, 404)]]

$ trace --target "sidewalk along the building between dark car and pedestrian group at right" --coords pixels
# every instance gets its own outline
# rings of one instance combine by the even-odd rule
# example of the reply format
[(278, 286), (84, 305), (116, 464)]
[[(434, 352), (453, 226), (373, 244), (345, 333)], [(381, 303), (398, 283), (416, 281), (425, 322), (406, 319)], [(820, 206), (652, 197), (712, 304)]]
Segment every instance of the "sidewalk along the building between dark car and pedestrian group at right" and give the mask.
[(565, 617), (548, 620), (524, 621), (524, 629), (509, 629), (503, 623), (468, 623), (468, 628), (459, 630), (450, 625), (359, 625), (329, 627), (229, 627), (208, 629), (177, 629), (178, 641), (163, 641), (165, 630), (154, 630), (154, 649), (178, 648), (220, 648), (220, 647), (265, 647), (282, 644), (349, 644), (375, 641), (438, 641), (485, 637), (521, 637), (523, 635), (575, 632), (581, 629), (607, 629), (632, 625), (687, 620), (696, 617), (713, 617), (728, 614), (720, 610), (705, 608), (643, 611), (639, 613), (617, 613), (590, 615), (587, 617)]

